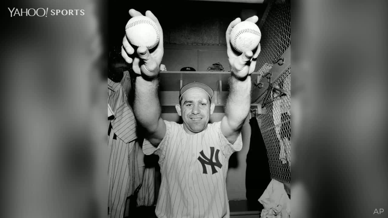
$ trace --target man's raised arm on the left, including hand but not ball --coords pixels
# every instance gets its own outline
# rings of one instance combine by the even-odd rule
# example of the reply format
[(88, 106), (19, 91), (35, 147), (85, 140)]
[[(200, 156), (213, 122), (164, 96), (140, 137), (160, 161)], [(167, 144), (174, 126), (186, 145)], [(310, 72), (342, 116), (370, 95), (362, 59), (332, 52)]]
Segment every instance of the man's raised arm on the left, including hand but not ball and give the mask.
[[(134, 9), (129, 10), (132, 17), (142, 14)], [(159, 71), (163, 57), (163, 32), (158, 19), (147, 10), (145, 16), (151, 18), (159, 28), (160, 39), (157, 47), (150, 53), (146, 47), (137, 48), (136, 54), (128, 42), (126, 36), (123, 38), (121, 55), (126, 62), (132, 63), (132, 69), (136, 74), (135, 99), (133, 112), (137, 122), (147, 131), (147, 139), (157, 146), (166, 133), (166, 125), (161, 118), (161, 107), (158, 98)]]

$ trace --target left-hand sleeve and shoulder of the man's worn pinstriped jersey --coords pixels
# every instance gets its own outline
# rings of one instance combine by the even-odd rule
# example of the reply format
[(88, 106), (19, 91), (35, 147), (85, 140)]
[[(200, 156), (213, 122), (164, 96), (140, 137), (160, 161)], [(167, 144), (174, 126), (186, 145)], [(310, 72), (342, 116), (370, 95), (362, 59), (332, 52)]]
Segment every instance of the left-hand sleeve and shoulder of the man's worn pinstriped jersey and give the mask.
[(170, 139), (171, 135), (171, 129), (172, 125), (170, 121), (163, 120), (166, 124), (166, 134), (165, 137), (163, 137), (162, 141), (159, 143), (158, 147), (155, 147), (154, 145), (151, 144), (151, 142), (147, 139), (144, 138), (143, 142), (143, 152), (145, 155), (150, 155), (150, 154), (156, 154), (159, 156), (159, 162), (163, 161), (163, 159), (166, 156), (166, 149), (167, 149), (167, 144)]

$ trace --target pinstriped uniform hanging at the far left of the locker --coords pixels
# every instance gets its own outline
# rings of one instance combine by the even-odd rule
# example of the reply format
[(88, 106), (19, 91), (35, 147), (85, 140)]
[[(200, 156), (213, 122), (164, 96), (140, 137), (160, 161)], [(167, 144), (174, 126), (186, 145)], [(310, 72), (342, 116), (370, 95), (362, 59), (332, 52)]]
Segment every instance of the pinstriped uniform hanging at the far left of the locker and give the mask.
[(129, 107), (127, 95), (120, 83), (110, 79), (108, 79), (108, 116), (110, 118), (108, 148), (111, 149), (108, 168), (108, 217), (118, 218), (123, 217), (126, 197), (136, 188), (134, 187), (136, 171), (130, 168), (130, 163), (134, 162), (130, 161), (130, 157), (134, 155), (137, 135), (135, 116)]

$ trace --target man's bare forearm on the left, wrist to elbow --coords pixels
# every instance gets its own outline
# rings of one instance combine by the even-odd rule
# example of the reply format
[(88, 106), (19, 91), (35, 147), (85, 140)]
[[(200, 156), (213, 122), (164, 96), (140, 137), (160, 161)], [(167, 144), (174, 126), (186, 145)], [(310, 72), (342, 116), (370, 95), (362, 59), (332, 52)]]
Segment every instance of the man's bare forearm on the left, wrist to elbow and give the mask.
[(150, 133), (158, 128), (161, 107), (158, 98), (159, 78), (144, 80), (136, 78), (134, 113), (139, 124)]

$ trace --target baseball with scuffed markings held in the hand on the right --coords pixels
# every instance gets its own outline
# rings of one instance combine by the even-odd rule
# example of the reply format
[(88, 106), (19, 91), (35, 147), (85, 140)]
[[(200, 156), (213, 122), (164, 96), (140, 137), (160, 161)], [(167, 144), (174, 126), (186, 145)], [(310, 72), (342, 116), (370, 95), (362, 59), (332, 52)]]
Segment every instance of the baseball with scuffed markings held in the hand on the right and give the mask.
[(230, 43), (238, 52), (254, 50), (262, 38), (259, 27), (251, 21), (236, 24), (230, 33)]

